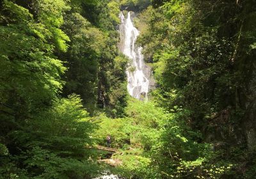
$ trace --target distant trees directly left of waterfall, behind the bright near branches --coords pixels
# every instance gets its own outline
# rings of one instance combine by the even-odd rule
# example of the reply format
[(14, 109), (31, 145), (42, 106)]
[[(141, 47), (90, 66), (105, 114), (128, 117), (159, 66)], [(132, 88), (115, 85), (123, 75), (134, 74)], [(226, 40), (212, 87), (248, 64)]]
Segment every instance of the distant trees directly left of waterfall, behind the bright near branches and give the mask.
[[(72, 1), (70, 4), (72, 6)], [(122, 116), (126, 97), (126, 59), (118, 54), (116, 45), (119, 5), (115, 1), (81, 1), (80, 4), (80, 10), (72, 8), (65, 13), (62, 26), (70, 36), (67, 53), (58, 55), (67, 61), (65, 66), (69, 69), (63, 95), (81, 95), (90, 113), (100, 107), (112, 116)]]

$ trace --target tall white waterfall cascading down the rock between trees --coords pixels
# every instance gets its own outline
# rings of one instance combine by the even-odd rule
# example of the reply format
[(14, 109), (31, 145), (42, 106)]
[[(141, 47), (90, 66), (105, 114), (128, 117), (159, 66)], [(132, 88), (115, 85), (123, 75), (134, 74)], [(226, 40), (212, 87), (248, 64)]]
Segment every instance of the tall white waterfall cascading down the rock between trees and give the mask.
[(126, 19), (120, 12), (120, 19), (120, 51), (131, 59), (126, 70), (128, 92), (134, 98), (147, 99), (150, 77), (147, 75), (148, 66), (143, 61), (142, 47), (135, 44), (140, 32), (132, 24), (131, 12), (128, 12)]

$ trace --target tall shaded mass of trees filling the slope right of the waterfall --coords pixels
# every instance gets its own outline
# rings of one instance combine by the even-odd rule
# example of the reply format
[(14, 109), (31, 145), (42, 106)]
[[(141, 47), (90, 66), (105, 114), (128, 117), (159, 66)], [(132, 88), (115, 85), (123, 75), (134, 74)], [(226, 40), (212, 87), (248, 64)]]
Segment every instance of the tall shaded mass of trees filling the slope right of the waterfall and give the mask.
[[(253, 178), (254, 2), (173, 0), (152, 4), (141, 13), (138, 24), (144, 25), (139, 41), (148, 61), (153, 61), (158, 85), (154, 100), (182, 121), (180, 128), (199, 132), (199, 138), (188, 135), (193, 141), (212, 143), (214, 152), (202, 157), (201, 144), (192, 144), (189, 148), (193, 150), (201, 148), (199, 158), (179, 154), (182, 162), (173, 165), (175, 155), (167, 152), (173, 149), (170, 125), (164, 132), (168, 142), (159, 146), (161, 157), (156, 160), (161, 177)], [(225, 169), (225, 175), (208, 173), (213, 163), (232, 169)]]

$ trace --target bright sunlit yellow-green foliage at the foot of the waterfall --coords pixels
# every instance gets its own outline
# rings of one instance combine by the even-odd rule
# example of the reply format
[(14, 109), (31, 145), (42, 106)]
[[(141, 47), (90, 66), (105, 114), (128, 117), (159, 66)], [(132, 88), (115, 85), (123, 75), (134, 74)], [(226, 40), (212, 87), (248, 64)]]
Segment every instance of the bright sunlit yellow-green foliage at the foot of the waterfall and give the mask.
[[(107, 134), (111, 146), (121, 148), (113, 159), (122, 161), (118, 173), (127, 178), (220, 178), (232, 169), (232, 162), (218, 161), (212, 144), (200, 143), (200, 132), (192, 130), (182, 119), (189, 111), (169, 113), (154, 102), (129, 100), (125, 118), (100, 116), (95, 131), (99, 144)], [(209, 162), (211, 161), (211, 162)], [(214, 162), (214, 163), (213, 163)]]

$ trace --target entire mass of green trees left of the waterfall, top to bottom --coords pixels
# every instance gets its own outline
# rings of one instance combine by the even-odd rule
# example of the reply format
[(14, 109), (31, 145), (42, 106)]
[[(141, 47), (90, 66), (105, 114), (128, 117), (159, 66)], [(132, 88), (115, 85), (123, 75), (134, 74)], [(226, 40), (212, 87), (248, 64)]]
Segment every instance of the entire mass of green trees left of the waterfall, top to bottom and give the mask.
[(0, 178), (99, 175), (87, 111), (122, 116), (127, 93), (108, 3), (1, 1)]

